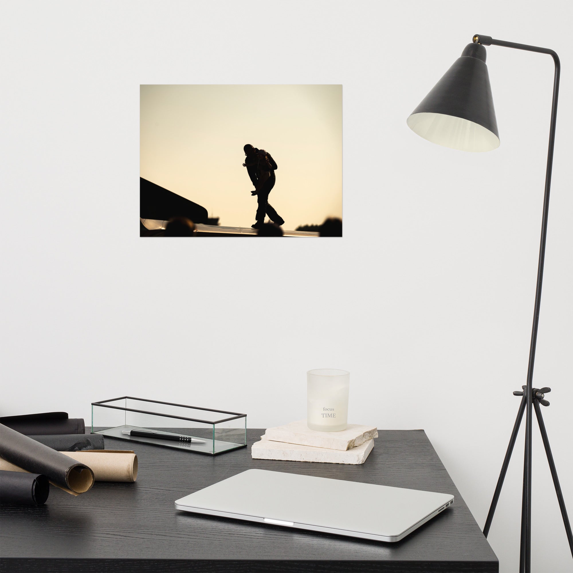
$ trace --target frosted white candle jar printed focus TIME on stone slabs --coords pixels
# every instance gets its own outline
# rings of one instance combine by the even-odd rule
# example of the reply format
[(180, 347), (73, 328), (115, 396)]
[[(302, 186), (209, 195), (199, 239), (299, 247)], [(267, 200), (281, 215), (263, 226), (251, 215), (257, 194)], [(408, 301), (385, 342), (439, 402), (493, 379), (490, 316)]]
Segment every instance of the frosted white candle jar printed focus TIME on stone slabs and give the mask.
[(350, 372), (319, 368), (307, 372), (307, 426), (318, 431), (346, 430)]

